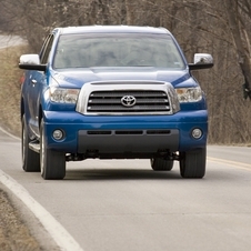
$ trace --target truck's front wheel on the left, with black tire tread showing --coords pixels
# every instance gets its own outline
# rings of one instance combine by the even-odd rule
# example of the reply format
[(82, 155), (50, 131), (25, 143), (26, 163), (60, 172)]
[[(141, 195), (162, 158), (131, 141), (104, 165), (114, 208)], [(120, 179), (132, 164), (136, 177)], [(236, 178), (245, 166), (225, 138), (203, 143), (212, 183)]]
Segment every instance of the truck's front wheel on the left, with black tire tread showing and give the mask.
[(40, 168), (44, 180), (62, 180), (66, 175), (66, 154), (48, 149), (43, 120), (40, 124)]

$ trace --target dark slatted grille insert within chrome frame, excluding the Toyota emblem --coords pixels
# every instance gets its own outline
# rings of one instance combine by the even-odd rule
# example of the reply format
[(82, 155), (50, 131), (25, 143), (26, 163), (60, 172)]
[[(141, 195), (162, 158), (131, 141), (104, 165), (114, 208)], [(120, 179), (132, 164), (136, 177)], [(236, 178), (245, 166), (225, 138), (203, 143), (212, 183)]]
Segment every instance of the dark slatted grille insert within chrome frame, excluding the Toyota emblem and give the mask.
[[(134, 97), (135, 104), (124, 107), (121, 102), (123, 97)], [(152, 90), (112, 90), (112, 91), (93, 91), (88, 99), (88, 112), (170, 112), (170, 102), (164, 91)]]

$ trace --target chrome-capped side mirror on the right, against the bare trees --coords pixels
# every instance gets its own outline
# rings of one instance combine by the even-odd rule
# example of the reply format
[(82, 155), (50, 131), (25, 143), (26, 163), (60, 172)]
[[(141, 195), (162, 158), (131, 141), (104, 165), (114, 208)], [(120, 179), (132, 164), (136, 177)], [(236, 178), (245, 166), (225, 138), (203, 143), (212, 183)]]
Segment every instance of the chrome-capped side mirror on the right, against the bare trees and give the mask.
[(213, 67), (213, 58), (207, 53), (195, 53), (193, 63), (189, 63), (190, 70), (208, 69)]

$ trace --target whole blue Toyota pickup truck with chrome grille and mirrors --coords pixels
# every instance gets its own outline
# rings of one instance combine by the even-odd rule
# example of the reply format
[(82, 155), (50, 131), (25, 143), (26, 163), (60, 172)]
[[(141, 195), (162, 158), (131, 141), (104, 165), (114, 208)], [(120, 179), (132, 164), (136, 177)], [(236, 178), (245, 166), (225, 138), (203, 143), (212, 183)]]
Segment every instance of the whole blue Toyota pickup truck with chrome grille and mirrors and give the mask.
[(188, 63), (164, 28), (54, 29), (20, 57), (23, 170), (63, 179), (68, 161), (149, 159), (203, 178), (208, 110), (191, 71), (212, 66), (208, 53)]

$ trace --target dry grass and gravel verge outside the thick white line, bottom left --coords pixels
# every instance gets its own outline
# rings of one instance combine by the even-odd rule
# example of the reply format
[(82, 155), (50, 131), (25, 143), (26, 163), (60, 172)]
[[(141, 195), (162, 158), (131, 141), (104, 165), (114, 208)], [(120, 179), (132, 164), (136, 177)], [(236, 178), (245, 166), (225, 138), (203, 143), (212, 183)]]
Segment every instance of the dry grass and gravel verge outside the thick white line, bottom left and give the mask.
[(59, 251), (32, 212), (1, 183), (0, 250)]

